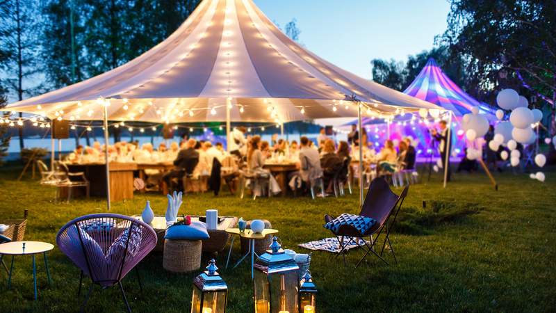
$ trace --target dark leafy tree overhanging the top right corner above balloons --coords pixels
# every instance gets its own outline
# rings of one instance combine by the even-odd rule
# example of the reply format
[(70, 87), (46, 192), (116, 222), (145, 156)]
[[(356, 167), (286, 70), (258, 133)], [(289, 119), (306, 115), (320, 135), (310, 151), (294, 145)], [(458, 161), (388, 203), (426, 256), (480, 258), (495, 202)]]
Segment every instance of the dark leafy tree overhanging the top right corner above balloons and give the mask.
[(442, 39), (490, 86), (505, 83), (555, 105), (556, 2), (452, 0)]

